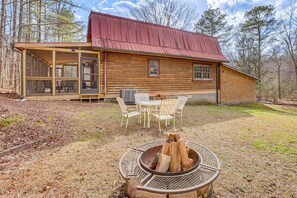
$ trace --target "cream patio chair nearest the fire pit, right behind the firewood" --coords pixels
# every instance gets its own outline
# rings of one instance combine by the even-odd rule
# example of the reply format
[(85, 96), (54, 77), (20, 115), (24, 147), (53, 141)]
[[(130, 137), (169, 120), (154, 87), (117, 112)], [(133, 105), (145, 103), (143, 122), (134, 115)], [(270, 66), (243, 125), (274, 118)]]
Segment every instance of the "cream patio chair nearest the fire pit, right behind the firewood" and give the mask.
[(161, 133), (162, 120), (165, 120), (165, 126), (167, 126), (167, 122), (173, 119), (173, 127), (175, 130), (175, 110), (176, 110), (177, 102), (178, 102), (177, 99), (162, 100), (158, 113), (153, 113), (153, 116), (155, 116), (158, 120), (160, 133)]

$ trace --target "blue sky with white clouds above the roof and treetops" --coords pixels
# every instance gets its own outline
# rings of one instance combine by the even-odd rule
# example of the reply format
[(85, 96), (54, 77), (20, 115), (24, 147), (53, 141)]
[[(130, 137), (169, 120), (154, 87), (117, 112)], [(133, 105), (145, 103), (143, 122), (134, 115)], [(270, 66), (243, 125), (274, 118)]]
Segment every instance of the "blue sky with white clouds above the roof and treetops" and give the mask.
[[(98, 12), (113, 14), (123, 17), (131, 17), (129, 15), (129, 7), (141, 3), (143, 0), (74, 0), (84, 9), (78, 10), (76, 19), (86, 22), (91, 10)], [(229, 16), (229, 21), (232, 24), (238, 24), (243, 20), (244, 12), (259, 5), (273, 5), (276, 7), (278, 14), (281, 10), (290, 4), (291, 1), (296, 0), (184, 0), (191, 2), (197, 8), (198, 15), (200, 16), (203, 11), (208, 8), (219, 7), (222, 11), (226, 12)], [(296, 3), (297, 5), (297, 3)], [(197, 18), (198, 20), (198, 18)]]

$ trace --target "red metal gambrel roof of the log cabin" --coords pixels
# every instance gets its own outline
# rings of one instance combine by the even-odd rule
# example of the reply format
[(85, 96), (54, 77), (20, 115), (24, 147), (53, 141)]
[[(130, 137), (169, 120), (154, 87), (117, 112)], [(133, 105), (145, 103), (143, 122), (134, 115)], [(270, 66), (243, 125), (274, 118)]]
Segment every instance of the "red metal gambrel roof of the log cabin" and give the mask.
[(228, 62), (215, 37), (94, 11), (89, 16), (87, 40), (106, 50)]

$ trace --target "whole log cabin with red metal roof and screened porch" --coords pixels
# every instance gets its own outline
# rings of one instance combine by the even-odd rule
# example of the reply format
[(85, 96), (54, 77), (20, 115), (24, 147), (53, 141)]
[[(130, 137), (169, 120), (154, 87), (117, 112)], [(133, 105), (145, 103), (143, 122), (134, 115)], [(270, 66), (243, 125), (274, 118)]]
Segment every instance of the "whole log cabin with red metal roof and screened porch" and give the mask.
[(15, 48), (28, 99), (111, 99), (127, 90), (222, 104), (256, 98), (256, 78), (227, 66), (217, 38), (133, 19), (92, 11), (87, 42)]

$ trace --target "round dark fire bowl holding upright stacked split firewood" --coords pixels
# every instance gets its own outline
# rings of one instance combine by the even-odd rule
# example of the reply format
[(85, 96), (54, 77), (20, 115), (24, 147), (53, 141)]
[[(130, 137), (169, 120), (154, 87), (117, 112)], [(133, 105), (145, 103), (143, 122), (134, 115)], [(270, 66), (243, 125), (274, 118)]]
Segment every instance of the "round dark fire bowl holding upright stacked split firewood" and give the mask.
[(140, 164), (149, 172), (159, 175), (177, 175), (197, 168), (199, 153), (185, 146), (179, 134), (166, 134), (163, 145), (149, 148), (142, 153)]

